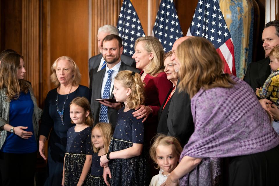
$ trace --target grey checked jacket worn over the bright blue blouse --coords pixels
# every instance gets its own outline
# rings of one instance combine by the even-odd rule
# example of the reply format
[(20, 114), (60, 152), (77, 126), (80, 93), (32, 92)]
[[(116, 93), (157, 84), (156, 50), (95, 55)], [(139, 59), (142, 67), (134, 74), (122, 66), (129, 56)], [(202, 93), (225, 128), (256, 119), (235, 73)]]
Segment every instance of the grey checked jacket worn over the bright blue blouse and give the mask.
[[(10, 114), (10, 102), (8, 101), (8, 96), (6, 95), (7, 88), (2, 88), (0, 90), (0, 127), (9, 123), (9, 114)], [(33, 110), (33, 129), (35, 139), (37, 140), (38, 130), (39, 130), (39, 119), (42, 115), (42, 109), (37, 105), (37, 100), (34, 96), (34, 92), (31, 86), (29, 86), (29, 92), (31, 99), (34, 104)], [(0, 130), (0, 149), (2, 148), (7, 137), (7, 130)]]

